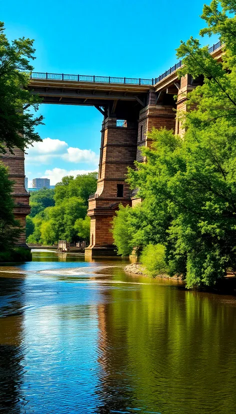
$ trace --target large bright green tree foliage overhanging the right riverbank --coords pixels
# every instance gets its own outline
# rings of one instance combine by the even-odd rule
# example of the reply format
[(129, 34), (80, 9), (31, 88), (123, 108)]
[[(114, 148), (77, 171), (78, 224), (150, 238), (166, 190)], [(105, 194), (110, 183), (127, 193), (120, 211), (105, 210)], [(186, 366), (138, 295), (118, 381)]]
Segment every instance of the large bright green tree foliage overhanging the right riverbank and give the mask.
[[(121, 209), (113, 225), (120, 253), (161, 244), (169, 273), (183, 275), (188, 287), (212, 285), (226, 269), (236, 271), (235, 12), (234, 1), (213, 1), (203, 9), (207, 28), (200, 34), (218, 35), (222, 63), (198, 40), (181, 42), (179, 76), (204, 76), (189, 95), (188, 106), (195, 109), (179, 114), (186, 127), (182, 138), (165, 129), (149, 134), (152, 148), (142, 149), (147, 162), (128, 173), (143, 202), (125, 213)], [(126, 250), (118, 237), (121, 228), (129, 239)]]

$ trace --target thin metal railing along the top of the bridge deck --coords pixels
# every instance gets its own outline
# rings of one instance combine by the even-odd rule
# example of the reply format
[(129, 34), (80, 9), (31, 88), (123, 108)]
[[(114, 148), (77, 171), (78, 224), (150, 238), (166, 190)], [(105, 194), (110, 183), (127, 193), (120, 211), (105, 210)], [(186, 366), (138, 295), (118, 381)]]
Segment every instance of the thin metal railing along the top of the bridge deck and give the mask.
[[(208, 52), (212, 53), (214, 50), (218, 49), (221, 46), (221, 43), (215, 43), (213, 46), (208, 48)], [(159, 75), (158, 78), (152, 79), (142, 79), (142, 78), (116, 78), (113, 76), (95, 76), (95, 75), (68, 75), (64, 73), (48, 73), (48, 72), (31, 72), (31, 79), (52, 79), (58, 81), (75, 81), (75, 82), (91, 82), (91, 83), (120, 83), (128, 85), (155, 85), (160, 82), (166, 76), (175, 72), (182, 65), (180, 60), (174, 66), (169, 68), (167, 71)]]

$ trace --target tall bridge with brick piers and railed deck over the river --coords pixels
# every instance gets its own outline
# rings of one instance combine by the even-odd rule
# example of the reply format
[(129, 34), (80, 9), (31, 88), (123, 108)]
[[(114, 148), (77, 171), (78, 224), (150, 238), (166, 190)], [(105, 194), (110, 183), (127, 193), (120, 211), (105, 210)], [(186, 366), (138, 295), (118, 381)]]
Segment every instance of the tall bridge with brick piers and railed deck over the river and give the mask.
[[(214, 59), (220, 60), (220, 43), (209, 48)], [(184, 131), (175, 119), (174, 110), (186, 110), (187, 93), (202, 83), (186, 75), (179, 79), (179, 61), (157, 78), (120, 78), (109, 76), (55, 74), (32, 72), (28, 89), (38, 94), (43, 104), (94, 106), (102, 115), (101, 145), (97, 190), (89, 197), (88, 216), (91, 218), (90, 245), (86, 255), (113, 255), (110, 222), (120, 202), (135, 205), (140, 202), (125, 182), (127, 167), (143, 161), (141, 146), (150, 146), (146, 133), (152, 127), (166, 127), (175, 133)], [(173, 96), (177, 95), (177, 100)], [(29, 214), (28, 194), (24, 188), (24, 154), (1, 157), (15, 181), (15, 217), (25, 226)], [(25, 245), (22, 234), (19, 245)]]

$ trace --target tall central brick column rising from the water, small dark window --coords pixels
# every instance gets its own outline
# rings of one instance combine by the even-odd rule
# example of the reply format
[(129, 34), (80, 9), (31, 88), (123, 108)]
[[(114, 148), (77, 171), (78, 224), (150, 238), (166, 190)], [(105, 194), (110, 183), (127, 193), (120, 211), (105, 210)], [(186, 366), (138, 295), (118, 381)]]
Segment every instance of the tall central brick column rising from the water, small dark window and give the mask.
[[(137, 125), (126, 121), (123, 126), (116, 126), (116, 118), (112, 117), (103, 121), (97, 190), (88, 200), (87, 214), (91, 218), (91, 226), (86, 256), (116, 254), (110, 222), (120, 202), (123, 205), (130, 204), (131, 192), (125, 182), (125, 175), (127, 167), (133, 167), (136, 145)], [(122, 190), (123, 194), (120, 194)]]

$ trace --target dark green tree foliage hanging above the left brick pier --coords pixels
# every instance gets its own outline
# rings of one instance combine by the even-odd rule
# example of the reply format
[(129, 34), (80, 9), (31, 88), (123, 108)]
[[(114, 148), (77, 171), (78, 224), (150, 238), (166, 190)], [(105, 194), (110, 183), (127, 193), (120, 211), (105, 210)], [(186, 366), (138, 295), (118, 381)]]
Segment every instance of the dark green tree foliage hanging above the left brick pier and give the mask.
[(42, 123), (42, 116), (33, 117), (31, 109), (38, 109), (40, 99), (27, 89), (33, 67), (35, 50), (30, 39), (9, 42), (0, 22), (0, 152), (13, 147), (22, 150), (40, 141), (34, 127)]

